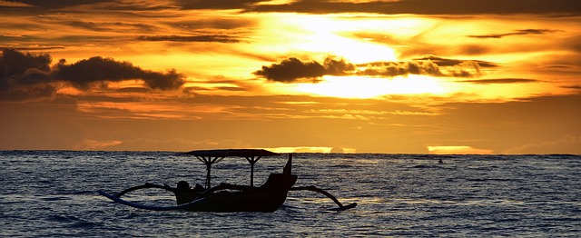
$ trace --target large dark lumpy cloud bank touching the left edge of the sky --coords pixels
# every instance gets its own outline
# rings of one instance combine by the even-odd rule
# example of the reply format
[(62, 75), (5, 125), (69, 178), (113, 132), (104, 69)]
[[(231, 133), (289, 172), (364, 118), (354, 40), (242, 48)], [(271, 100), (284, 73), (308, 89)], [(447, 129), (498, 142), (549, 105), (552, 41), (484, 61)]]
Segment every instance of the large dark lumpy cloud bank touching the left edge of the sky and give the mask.
[(50, 55), (32, 55), (3, 49), (0, 55), (0, 101), (28, 101), (53, 97), (56, 83), (68, 83), (81, 90), (103, 82), (143, 80), (150, 89), (171, 90), (184, 84), (175, 70), (153, 72), (111, 58), (92, 57), (74, 64), (61, 60), (51, 67)]

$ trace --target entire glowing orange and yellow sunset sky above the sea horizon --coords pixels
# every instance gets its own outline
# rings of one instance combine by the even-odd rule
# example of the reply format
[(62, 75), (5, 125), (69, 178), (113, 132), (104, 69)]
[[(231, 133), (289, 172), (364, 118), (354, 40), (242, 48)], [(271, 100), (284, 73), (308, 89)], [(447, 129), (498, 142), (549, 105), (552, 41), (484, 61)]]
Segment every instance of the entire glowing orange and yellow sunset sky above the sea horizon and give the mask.
[(0, 150), (581, 154), (578, 0), (0, 0)]

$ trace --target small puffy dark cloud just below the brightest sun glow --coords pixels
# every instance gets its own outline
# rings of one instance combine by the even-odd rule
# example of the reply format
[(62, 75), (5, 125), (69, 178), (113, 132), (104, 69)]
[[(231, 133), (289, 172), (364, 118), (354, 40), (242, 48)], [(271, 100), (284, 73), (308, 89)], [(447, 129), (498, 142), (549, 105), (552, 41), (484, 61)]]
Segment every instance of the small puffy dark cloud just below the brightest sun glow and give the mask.
[(300, 79), (316, 79), (322, 75), (342, 75), (349, 74), (356, 69), (354, 64), (345, 62), (344, 59), (327, 57), (323, 64), (316, 61), (302, 62), (300, 59), (291, 57), (283, 60), (280, 64), (262, 66), (262, 69), (254, 72), (256, 75), (264, 76), (271, 81), (293, 83)]

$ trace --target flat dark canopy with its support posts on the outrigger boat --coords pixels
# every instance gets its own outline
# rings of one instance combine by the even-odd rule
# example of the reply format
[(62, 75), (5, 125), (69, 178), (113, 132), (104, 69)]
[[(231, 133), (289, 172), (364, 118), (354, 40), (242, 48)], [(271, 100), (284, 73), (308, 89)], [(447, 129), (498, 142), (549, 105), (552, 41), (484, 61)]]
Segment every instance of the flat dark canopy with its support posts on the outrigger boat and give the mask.
[(221, 150), (198, 150), (186, 152), (183, 154), (193, 155), (203, 164), (206, 164), (206, 189), (211, 186), (210, 171), (212, 164), (216, 164), (225, 157), (244, 157), (251, 164), (251, 186), (254, 186), (254, 164), (261, 159), (262, 156), (281, 155), (264, 149), (221, 149)]

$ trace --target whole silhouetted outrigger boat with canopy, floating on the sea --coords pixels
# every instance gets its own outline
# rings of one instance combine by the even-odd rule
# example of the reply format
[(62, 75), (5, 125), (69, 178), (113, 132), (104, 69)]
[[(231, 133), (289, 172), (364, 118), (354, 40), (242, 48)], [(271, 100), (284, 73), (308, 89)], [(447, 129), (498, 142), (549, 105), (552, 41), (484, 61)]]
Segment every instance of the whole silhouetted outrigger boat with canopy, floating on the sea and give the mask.
[[(259, 187), (253, 184), (254, 164), (261, 157), (281, 155), (261, 149), (226, 149), (226, 150), (203, 150), (184, 153), (192, 155), (206, 165), (205, 187), (196, 185), (191, 188), (187, 182), (180, 181), (177, 187), (170, 185), (145, 183), (123, 190), (121, 193), (105, 193), (99, 190), (103, 196), (113, 200), (116, 203), (122, 203), (135, 208), (169, 211), (185, 210), (192, 212), (267, 212), (271, 213), (279, 209), (287, 198), (290, 191), (312, 191), (322, 193), (329, 197), (339, 207), (332, 208), (332, 211), (342, 211), (357, 206), (357, 203), (343, 205), (332, 194), (315, 186), (293, 187), (297, 181), (297, 175), (292, 174), (292, 154), (289, 154), (289, 160), (283, 168), (282, 174), (271, 174), (266, 181)], [(226, 157), (243, 157), (251, 164), (251, 184), (236, 185), (230, 183), (220, 183), (212, 187), (210, 183), (212, 164), (216, 164)], [(152, 206), (140, 203), (133, 203), (122, 199), (126, 194), (139, 189), (157, 188), (170, 191), (175, 194), (177, 205), (175, 206)]]

